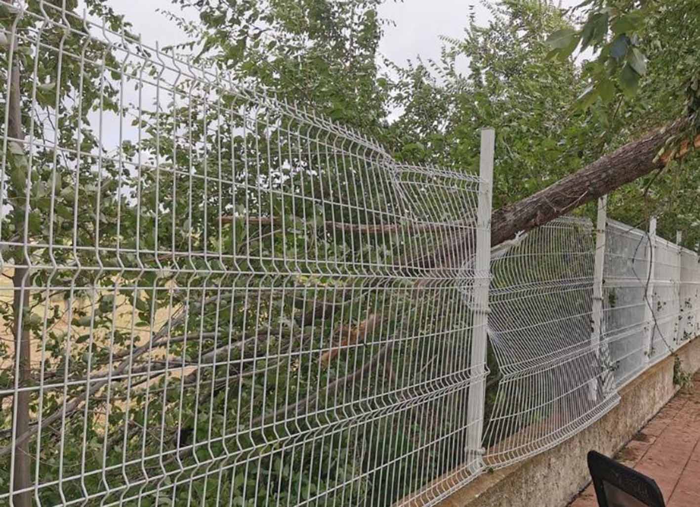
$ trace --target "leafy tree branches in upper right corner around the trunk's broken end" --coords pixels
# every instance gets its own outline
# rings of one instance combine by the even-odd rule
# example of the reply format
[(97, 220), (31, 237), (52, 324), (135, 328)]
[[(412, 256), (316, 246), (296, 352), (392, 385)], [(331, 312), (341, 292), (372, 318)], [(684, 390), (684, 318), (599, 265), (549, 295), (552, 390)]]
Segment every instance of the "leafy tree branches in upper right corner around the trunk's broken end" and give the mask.
[[(567, 58), (575, 51), (593, 51), (582, 67), (587, 85), (578, 105), (601, 111), (601, 135), (608, 149), (624, 145), (655, 128), (687, 118), (686, 126), (661, 148), (666, 156), (682, 151), (685, 139), (697, 134), (700, 6), (694, 1), (582, 2), (575, 11), (580, 25), (564, 27), (548, 39), (552, 55)], [(696, 221), (694, 159), (673, 170), (658, 169), (611, 195), (609, 212), (628, 223), (644, 223), (659, 215), (659, 232), (684, 244), (700, 244)]]

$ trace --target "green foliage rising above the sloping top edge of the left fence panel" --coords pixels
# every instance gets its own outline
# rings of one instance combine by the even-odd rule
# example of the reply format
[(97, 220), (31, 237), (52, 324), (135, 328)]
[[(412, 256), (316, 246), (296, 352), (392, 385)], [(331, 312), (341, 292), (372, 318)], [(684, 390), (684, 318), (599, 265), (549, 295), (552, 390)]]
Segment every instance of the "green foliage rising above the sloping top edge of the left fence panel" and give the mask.
[[(381, 0), (174, 0), (194, 8), (199, 59), (309, 111), (380, 137), (388, 81), (379, 78)], [(185, 26), (185, 25), (183, 25)], [(191, 45), (190, 45), (191, 46)]]

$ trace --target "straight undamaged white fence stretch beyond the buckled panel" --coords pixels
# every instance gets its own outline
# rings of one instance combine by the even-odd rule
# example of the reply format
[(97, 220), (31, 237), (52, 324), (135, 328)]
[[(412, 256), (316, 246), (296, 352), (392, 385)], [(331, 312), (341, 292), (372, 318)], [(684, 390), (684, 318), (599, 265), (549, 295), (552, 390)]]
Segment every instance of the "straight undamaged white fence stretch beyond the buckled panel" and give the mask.
[(654, 232), (608, 221), (604, 340), (618, 385), (699, 334), (699, 257)]

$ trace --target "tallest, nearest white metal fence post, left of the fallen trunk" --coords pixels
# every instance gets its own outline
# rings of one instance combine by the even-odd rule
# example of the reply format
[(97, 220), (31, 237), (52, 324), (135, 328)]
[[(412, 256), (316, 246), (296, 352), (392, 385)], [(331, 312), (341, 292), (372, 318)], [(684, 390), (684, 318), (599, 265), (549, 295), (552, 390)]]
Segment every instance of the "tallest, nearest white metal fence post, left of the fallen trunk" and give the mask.
[(473, 292), (474, 334), (470, 353), (470, 373), (467, 407), (468, 468), (478, 473), (484, 464), (482, 455), (482, 428), (486, 391), (486, 340), (489, 324), (489, 286), (491, 284), (491, 189), (493, 186), (493, 145), (495, 132), (491, 128), (481, 132), (479, 162), (479, 209), (477, 210), (476, 261)]

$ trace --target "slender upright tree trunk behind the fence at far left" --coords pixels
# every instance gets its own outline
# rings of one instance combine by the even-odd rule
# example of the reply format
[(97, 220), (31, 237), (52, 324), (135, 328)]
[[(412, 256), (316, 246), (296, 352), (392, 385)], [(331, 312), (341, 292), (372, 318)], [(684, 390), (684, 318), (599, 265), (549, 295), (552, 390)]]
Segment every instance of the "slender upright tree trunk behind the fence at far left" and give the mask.
[[(13, 43), (15, 43), (13, 41)], [(15, 43), (16, 48), (16, 43)], [(22, 132), (22, 110), (20, 107), (20, 65), (15, 53), (12, 74), (10, 75), (10, 99), (8, 111), (8, 132), (9, 137), (15, 139), (25, 139)], [(28, 204), (27, 204), (28, 205)], [(18, 217), (22, 214), (18, 213)], [(20, 218), (15, 220), (15, 232), (25, 228), (25, 224)], [(15, 260), (15, 263), (19, 263)], [(19, 387), (27, 387), (31, 380), (31, 343), (29, 331), (23, 326), (22, 314), (29, 311), (29, 290), (27, 285), (27, 269), (15, 268), (12, 277), (13, 291), (13, 335), (15, 338), (15, 354), (18, 354), (19, 361), (15, 363), (15, 376)], [(29, 431), (29, 391), (15, 393), (16, 413), (15, 435), (24, 435)], [(29, 440), (22, 440), (15, 446), (13, 489), (29, 489), (31, 486), (31, 457), (29, 456)], [(13, 495), (14, 507), (31, 507), (31, 491)]]

